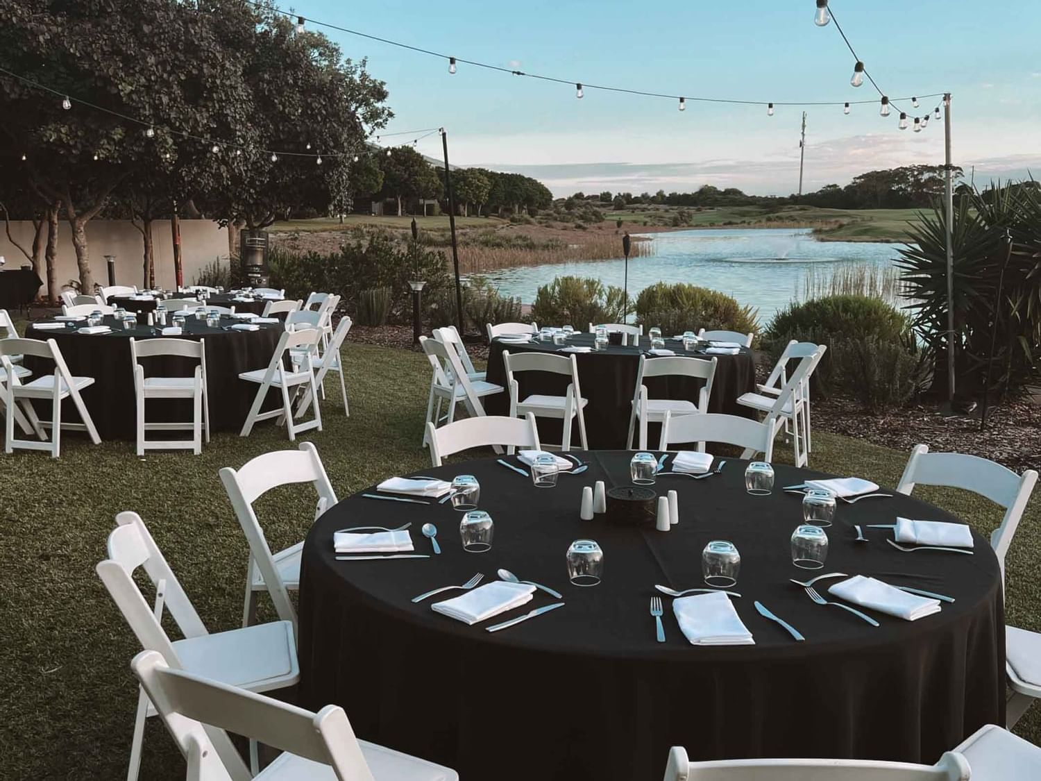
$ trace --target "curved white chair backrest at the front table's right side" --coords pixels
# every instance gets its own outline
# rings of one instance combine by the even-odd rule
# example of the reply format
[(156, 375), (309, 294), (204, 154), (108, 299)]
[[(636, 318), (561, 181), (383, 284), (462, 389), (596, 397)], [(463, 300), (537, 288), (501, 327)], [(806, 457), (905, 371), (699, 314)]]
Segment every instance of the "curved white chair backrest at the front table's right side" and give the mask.
[(1001, 524), (990, 535), (990, 545), (1005, 571), (1005, 554), (1009, 552), (1016, 527), (1031, 499), (1038, 473), (1026, 470), (1017, 475), (999, 463), (963, 453), (930, 453), (928, 445), (916, 445), (896, 490), (911, 495), (916, 483), (965, 488), (986, 497), (1005, 508)]

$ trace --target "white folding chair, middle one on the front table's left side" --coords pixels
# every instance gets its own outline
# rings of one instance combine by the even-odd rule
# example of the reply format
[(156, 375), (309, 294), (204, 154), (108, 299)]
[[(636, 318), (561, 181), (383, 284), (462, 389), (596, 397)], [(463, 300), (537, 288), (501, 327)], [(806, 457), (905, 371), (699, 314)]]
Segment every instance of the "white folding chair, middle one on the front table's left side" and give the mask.
[[(284, 688), (299, 680), (291, 622), (275, 621), (210, 634), (141, 517), (136, 512), (121, 512), (116, 517), (116, 524), (108, 535), (108, 558), (96, 569), (146, 651), (158, 652), (172, 667), (188, 670), (251, 691)], [(133, 578), (138, 568), (155, 586), (152, 606)], [(171, 640), (162, 628), (163, 608), (170, 611), (182, 639)], [(148, 696), (142, 690), (130, 745), (128, 781), (137, 778), (145, 720), (154, 713), (155, 710), (149, 707)], [(255, 759), (256, 748), (252, 742), (251, 755)]]

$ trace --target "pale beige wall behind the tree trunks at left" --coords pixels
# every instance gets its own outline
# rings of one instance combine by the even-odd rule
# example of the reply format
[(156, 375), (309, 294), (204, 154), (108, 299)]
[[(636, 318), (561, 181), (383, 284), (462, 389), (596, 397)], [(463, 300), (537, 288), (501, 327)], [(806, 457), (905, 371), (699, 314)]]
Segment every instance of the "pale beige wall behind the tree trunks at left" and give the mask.
[[(30, 252), (32, 247), (32, 223), (14, 221), (10, 232), (15, 240)], [(45, 228), (46, 241), (46, 228)], [(137, 230), (126, 220), (92, 220), (86, 224), (87, 248), (91, 253), (91, 271), (94, 281), (99, 284), (108, 283), (108, 267), (105, 255), (116, 255), (116, 281), (118, 284), (141, 285), (144, 281), (145, 246)], [(171, 288), (174, 280), (174, 244), (170, 231), (169, 220), (156, 220), (152, 223), (153, 255), (155, 257), (156, 284)], [(25, 255), (9, 241), (5, 231), (0, 230), (0, 255), (7, 259), (4, 267), (7, 270), (18, 269), (29, 262)], [(212, 220), (181, 220), (181, 257), (184, 263), (184, 283), (191, 284), (196, 272), (214, 258), (221, 257), (227, 261), (228, 230), (218, 227)], [(43, 259), (41, 267), (43, 267)], [(47, 275), (44, 268), (40, 270), (44, 286), (40, 295), (47, 293)], [(76, 268), (76, 251), (72, 246), (69, 223), (61, 221), (58, 225), (57, 276), (58, 289), (70, 279), (79, 279)]]

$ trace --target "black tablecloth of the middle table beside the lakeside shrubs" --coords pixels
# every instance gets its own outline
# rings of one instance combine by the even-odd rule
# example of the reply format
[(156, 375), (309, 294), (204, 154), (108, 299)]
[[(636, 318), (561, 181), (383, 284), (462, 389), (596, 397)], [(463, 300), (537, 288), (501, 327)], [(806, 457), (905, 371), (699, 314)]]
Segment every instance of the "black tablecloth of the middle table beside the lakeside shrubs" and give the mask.
[[(567, 341), (566, 346), (592, 347), (594, 336), (591, 333), (580, 333)], [(503, 350), (510, 353), (518, 352), (560, 352), (565, 345), (555, 346), (552, 343), (533, 341), (528, 344), (508, 344), (494, 339), (488, 352), (488, 382), (506, 387), (506, 369), (503, 366)], [(686, 352), (681, 342), (666, 341), (665, 346), (675, 350), (677, 355), (711, 358), (704, 352)], [(639, 347), (608, 346), (607, 350), (591, 353), (576, 353), (579, 367), (579, 384), (582, 396), (589, 403), (585, 408), (586, 434), (589, 447), (625, 448), (629, 433), (629, 414), (632, 409), (633, 394), (636, 392), (636, 374), (639, 371), (639, 358), (642, 351), (651, 348), (648, 337), (640, 339)], [(568, 353), (561, 353), (567, 355)], [(741, 394), (755, 392), (756, 366), (752, 351), (742, 348), (737, 355), (716, 355), (715, 379), (712, 382), (712, 396), (709, 399), (710, 412), (727, 412), (750, 417), (753, 411), (737, 404)], [(545, 372), (522, 372), (516, 375), (520, 386), (520, 398), (531, 394), (551, 394), (562, 396), (567, 389), (568, 378), (559, 374)], [(697, 392), (705, 383), (690, 377), (649, 377), (644, 384), (652, 399), (686, 399), (697, 403)], [(484, 409), (488, 414), (508, 414), (510, 408), (509, 389), (483, 399)], [(658, 444), (660, 431), (658, 424), (648, 426), (648, 445)], [(561, 422), (559, 420), (540, 419), (538, 421), (539, 436), (547, 443), (560, 443)], [(572, 427), (572, 447), (580, 447), (578, 424)], [(637, 444), (637, 439), (633, 439)]]

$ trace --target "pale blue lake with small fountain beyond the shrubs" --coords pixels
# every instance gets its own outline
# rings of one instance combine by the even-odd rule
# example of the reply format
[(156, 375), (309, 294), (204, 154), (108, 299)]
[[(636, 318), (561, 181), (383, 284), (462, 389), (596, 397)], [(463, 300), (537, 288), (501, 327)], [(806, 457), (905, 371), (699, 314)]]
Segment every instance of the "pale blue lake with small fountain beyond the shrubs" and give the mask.
[[(636, 234), (633, 234), (636, 235)], [(864, 242), (818, 242), (808, 228), (681, 230), (643, 234), (655, 252), (629, 260), (630, 300), (655, 282), (690, 282), (733, 296), (759, 308), (767, 324), (773, 313), (803, 297), (807, 275), (830, 277), (843, 266), (886, 269), (902, 245)], [(621, 244), (620, 238), (618, 242)], [(503, 295), (530, 304), (539, 285), (557, 276), (598, 277), (621, 286), (625, 260), (516, 267), (485, 276)]]

